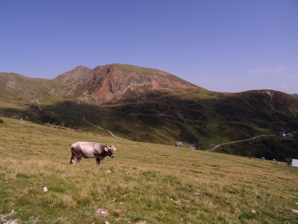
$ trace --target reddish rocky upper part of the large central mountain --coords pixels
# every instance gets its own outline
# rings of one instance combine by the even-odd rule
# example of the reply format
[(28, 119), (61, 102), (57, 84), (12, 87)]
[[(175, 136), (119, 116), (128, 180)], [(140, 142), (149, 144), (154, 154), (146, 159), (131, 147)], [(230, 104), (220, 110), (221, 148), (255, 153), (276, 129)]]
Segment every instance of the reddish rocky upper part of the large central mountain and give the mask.
[[(142, 86), (149, 89), (198, 89), (199, 87), (169, 73), (133, 65), (111, 64), (90, 70), (88, 80), (64, 88), (68, 96), (89, 96), (95, 104), (120, 99), (127, 90)], [(78, 95), (78, 93), (80, 93)]]

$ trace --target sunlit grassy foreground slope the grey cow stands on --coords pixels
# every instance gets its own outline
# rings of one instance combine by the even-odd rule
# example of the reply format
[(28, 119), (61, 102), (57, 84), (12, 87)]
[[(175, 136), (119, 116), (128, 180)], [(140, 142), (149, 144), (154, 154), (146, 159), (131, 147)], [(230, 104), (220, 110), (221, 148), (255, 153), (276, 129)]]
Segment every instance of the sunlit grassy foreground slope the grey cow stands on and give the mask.
[[(284, 163), (2, 119), (0, 214), (7, 215), (3, 219), (15, 223), (297, 223), (298, 215), (291, 209), (298, 209), (294, 190), (298, 169)], [(70, 145), (76, 141), (116, 143), (116, 156), (105, 158), (99, 166), (94, 159), (70, 165)], [(98, 209), (107, 209), (108, 216), (96, 214)]]

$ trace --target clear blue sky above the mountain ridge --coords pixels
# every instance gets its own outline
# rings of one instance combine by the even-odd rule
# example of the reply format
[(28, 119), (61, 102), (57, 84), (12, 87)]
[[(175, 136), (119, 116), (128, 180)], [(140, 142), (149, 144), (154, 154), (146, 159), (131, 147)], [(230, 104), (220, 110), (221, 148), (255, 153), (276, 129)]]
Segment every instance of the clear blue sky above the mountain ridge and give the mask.
[(298, 93), (298, 1), (0, 0), (0, 71), (151, 67), (209, 90)]

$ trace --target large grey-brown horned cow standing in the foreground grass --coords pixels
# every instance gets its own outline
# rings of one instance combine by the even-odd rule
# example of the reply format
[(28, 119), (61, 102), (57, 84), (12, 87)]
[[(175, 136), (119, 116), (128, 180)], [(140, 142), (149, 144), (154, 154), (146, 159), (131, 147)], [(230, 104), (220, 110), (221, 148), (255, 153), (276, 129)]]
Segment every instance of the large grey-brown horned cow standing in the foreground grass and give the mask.
[(114, 158), (114, 151), (116, 144), (114, 146), (107, 146), (96, 142), (75, 142), (71, 146), (72, 157), (70, 159), (70, 164), (81, 162), (81, 158), (94, 158), (96, 159), (96, 164), (99, 165), (100, 161), (106, 156)]

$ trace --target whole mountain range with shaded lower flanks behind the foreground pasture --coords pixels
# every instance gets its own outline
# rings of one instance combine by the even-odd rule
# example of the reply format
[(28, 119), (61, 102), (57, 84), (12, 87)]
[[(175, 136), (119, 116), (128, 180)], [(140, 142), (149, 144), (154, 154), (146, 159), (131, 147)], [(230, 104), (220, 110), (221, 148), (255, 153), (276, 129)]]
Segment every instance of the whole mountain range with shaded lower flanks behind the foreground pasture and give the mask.
[[(100, 127), (133, 141), (181, 141), (202, 150), (235, 142), (215, 151), (279, 160), (297, 157), (294, 95), (275, 90), (209, 91), (160, 70), (122, 64), (79, 66), (52, 80), (26, 78), (15, 81), (15, 86), (31, 95), (2, 90), (9, 105), (0, 107), (0, 115), (109, 135)], [(14, 80), (7, 75), (1, 85), (9, 79)], [(280, 131), (291, 136), (279, 137)]]

